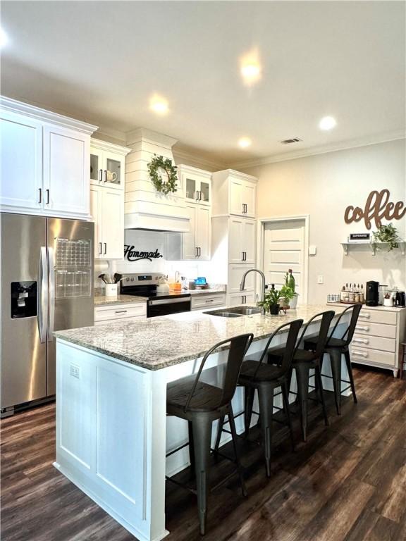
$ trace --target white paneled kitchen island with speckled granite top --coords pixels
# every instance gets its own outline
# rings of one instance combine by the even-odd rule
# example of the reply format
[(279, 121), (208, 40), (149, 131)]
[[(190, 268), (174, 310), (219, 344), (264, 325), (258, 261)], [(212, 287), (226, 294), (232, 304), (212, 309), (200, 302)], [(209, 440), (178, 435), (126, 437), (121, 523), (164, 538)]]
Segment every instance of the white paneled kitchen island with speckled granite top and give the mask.
[[(283, 316), (239, 318), (187, 312), (56, 332), (56, 468), (139, 540), (163, 539), (165, 475), (190, 464), (187, 447), (166, 459), (187, 442), (187, 423), (166, 418), (166, 385), (196, 373), (216, 342), (252, 332), (249, 354), (259, 354), (280, 325), (325, 310), (300, 306)], [(281, 333), (275, 344), (283, 342)], [(215, 384), (225, 359), (219, 352), (207, 361), (208, 383)], [(235, 413), (242, 404), (238, 389)], [(237, 421), (242, 432), (242, 417)]]

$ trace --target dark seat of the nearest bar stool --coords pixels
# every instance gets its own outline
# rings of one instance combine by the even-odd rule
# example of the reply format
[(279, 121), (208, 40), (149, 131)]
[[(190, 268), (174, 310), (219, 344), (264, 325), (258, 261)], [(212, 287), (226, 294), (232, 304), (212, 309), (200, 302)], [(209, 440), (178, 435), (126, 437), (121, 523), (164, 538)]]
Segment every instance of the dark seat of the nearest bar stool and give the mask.
[(188, 419), (193, 411), (209, 412), (219, 409), (223, 390), (199, 381), (185, 413), (187, 398), (192, 391), (193, 385), (195, 385), (195, 380), (196, 376), (191, 375), (168, 385), (166, 390), (166, 411), (170, 415)]

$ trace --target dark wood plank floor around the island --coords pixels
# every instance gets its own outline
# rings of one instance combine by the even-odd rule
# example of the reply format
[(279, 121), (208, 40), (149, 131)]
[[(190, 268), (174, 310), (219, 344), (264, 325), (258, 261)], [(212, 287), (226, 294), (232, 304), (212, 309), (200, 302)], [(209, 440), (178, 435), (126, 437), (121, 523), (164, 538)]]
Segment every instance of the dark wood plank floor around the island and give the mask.
[[(249, 497), (235, 480), (211, 495), (207, 541), (406, 540), (406, 381), (362, 368), (355, 378), (359, 404), (344, 399), (340, 417), (331, 404), (328, 428), (315, 405), (295, 453), (280, 431), (271, 480), (261, 449), (244, 444)], [(53, 404), (1, 421), (1, 539), (134, 540), (51, 466), (54, 437)], [(214, 482), (229, 467), (219, 461)], [(198, 540), (194, 497), (167, 490), (166, 539)]]

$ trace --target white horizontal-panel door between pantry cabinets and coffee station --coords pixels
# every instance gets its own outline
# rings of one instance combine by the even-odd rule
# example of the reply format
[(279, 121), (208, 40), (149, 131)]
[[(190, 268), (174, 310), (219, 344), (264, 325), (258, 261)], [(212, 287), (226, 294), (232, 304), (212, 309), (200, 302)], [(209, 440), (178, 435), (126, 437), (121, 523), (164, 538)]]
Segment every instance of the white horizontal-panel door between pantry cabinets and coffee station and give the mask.
[[(280, 289), (288, 269), (293, 270), (296, 292), (304, 290), (305, 220), (269, 222), (264, 232), (264, 273), (266, 283)], [(301, 298), (299, 297), (299, 301)]]

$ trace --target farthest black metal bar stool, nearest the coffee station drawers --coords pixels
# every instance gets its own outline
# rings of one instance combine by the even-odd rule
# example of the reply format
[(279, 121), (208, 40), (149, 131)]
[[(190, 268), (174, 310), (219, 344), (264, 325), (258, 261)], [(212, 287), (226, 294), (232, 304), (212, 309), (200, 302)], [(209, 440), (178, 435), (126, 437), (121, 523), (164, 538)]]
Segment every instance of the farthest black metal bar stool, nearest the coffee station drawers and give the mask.
[[(338, 415), (341, 415), (341, 393), (346, 391), (347, 389), (351, 388), (352, 398), (354, 399), (355, 404), (357, 404), (357, 394), (355, 393), (355, 384), (354, 384), (354, 378), (352, 375), (349, 346), (352, 341), (352, 337), (354, 336), (355, 327), (357, 325), (358, 316), (361, 309), (362, 309), (362, 304), (360, 303), (353, 304), (352, 306), (348, 306), (348, 308), (346, 308), (340, 314), (340, 316), (338, 317), (338, 320), (336, 321), (336, 325), (334, 325), (333, 330), (330, 332), (330, 335), (326, 342), (326, 347), (324, 348), (324, 353), (330, 356), (332, 375), (326, 375), (326, 374), (322, 374), (322, 375), (324, 378), (331, 378), (333, 380), (334, 398), (336, 400), (336, 411)], [(341, 338), (334, 338), (333, 334), (336, 331), (336, 328), (338, 327), (338, 325), (340, 325), (340, 321), (342, 321), (343, 316), (347, 315), (347, 313), (349, 313), (350, 311), (352, 311), (350, 324), (347, 325), (347, 328), (343, 336)], [(317, 335), (306, 337), (305, 349), (314, 350), (317, 340), (318, 340)], [(350, 378), (350, 381), (343, 380), (341, 378), (341, 356), (342, 355), (344, 355), (345, 357), (345, 364), (347, 365), (348, 377)], [(323, 359), (321, 358), (321, 368), (322, 366), (323, 366)], [(345, 387), (345, 389), (341, 390), (341, 382), (349, 383), (350, 385), (348, 387)]]

